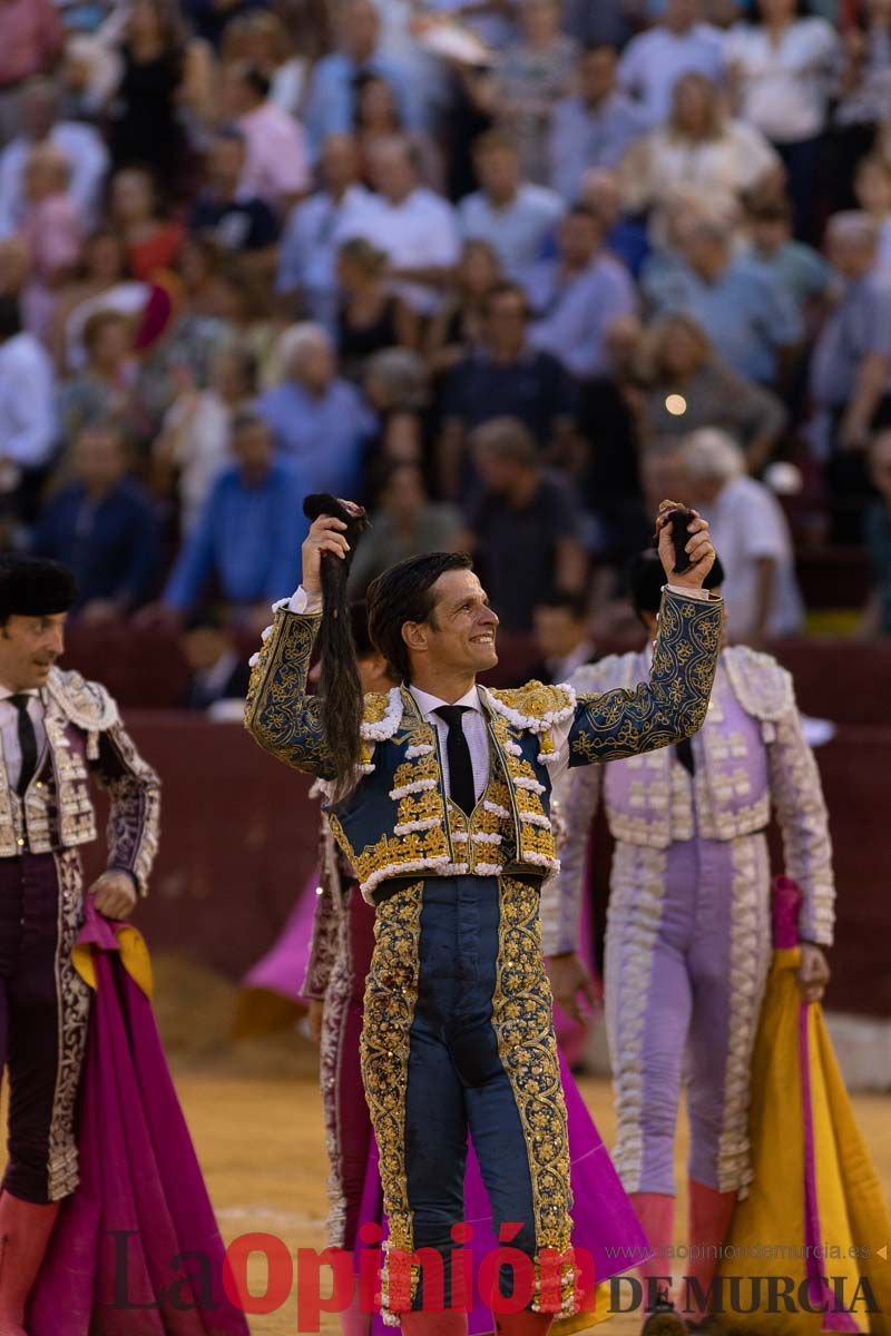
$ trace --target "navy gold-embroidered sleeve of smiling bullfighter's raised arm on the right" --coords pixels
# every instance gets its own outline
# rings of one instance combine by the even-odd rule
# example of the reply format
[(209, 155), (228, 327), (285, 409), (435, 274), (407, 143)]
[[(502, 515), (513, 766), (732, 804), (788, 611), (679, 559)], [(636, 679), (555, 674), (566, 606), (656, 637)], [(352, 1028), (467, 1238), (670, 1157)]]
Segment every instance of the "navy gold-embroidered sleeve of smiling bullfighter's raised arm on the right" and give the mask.
[(578, 697), (569, 764), (637, 756), (689, 737), (703, 725), (721, 643), (721, 601), (663, 595), (649, 681)]

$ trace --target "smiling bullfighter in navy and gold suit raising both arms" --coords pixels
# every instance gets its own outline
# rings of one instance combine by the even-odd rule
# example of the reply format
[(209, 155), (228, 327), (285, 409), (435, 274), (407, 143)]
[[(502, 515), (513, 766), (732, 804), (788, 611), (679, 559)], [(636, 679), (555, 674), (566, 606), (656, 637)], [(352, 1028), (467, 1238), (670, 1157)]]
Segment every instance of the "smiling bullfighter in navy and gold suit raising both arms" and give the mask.
[[(720, 600), (701, 591), (713, 549), (695, 520), (692, 566), (676, 574), (669, 506), (660, 552), (679, 584), (663, 601), (651, 681), (636, 692), (576, 700), (541, 683), (477, 685), (497, 663), (498, 617), (469, 558), (439, 552), (370, 585), (371, 640), (403, 685), (355, 700), (337, 603), (329, 612), (326, 595), (321, 607), (322, 564), (347, 554), (345, 530), (355, 525), (330, 514), (310, 529), (302, 587), (277, 608), (251, 675), (246, 727), (285, 764), (327, 782), (331, 830), (375, 904), (362, 1079), (390, 1224), (382, 1303), (407, 1336), (466, 1333), (450, 1284), (468, 1132), (494, 1232), (510, 1222), (512, 1246), (532, 1264), (522, 1309), (517, 1293), (504, 1303), (497, 1276), (482, 1287), (501, 1336), (546, 1336), (556, 1311), (577, 1309), (576, 1269), (564, 1260), (566, 1114), (538, 926), (541, 879), (554, 868), (549, 795), (566, 767), (667, 745), (705, 716), (721, 627)], [(306, 693), (319, 631), (323, 701)], [(329, 715), (334, 700), (361, 707), (355, 731), (343, 709)], [(589, 985), (574, 942), (568, 953), (556, 941), (545, 950), (554, 994), (577, 1014), (576, 994)], [(430, 1269), (410, 1265), (418, 1248), (449, 1264), (431, 1304)], [(556, 1268), (544, 1269), (554, 1252)]]

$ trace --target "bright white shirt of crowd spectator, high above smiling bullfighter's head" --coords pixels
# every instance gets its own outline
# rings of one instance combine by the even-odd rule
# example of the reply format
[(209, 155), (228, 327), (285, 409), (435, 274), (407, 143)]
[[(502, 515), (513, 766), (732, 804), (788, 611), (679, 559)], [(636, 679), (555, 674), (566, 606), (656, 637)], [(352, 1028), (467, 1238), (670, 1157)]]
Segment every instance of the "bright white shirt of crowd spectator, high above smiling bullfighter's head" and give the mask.
[[(456, 211), (426, 186), (391, 204), (382, 195), (366, 195), (347, 208), (335, 240), (363, 236), (382, 250), (394, 269), (452, 269), (458, 262), (460, 240)], [(394, 291), (415, 311), (430, 315), (441, 305), (435, 287), (395, 283)]]

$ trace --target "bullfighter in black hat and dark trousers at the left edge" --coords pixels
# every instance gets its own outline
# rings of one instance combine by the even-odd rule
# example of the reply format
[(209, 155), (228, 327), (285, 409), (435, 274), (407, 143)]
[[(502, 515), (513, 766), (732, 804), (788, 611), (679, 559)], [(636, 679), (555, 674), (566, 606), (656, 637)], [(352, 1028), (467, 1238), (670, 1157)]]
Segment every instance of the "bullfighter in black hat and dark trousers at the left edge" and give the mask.
[(84, 921), (80, 846), (96, 839), (92, 775), (111, 796), (96, 908), (123, 918), (146, 892), (159, 782), (98, 683), (61, 672), (73, 576), (0, 562), (0, 1065), (9, 1162), (0, 1196), (0, 1336), (24, 1336), (28, 1293), (63, 1197), (77, 1186), (75, 1108), (90, 989), (71, 962)]

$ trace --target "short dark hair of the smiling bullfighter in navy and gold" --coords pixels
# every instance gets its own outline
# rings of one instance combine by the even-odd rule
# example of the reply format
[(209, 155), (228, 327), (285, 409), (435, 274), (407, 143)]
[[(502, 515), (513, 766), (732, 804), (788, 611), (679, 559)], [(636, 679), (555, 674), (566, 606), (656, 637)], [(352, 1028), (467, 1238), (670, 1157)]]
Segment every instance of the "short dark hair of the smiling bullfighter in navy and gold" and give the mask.
[(411, 660), (402, 639), (406, 621), (430, 621), (433, 587), (448, 570), (470, 570), (466, 552), (425, 552), (398, 561), (369, 585), (369, 635), (399, 681), (411, 677)]

